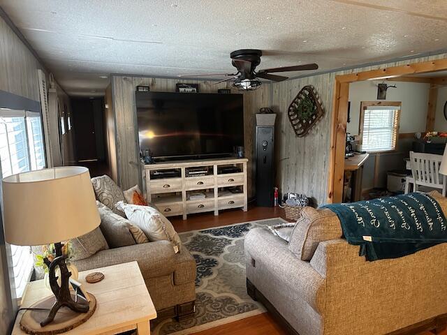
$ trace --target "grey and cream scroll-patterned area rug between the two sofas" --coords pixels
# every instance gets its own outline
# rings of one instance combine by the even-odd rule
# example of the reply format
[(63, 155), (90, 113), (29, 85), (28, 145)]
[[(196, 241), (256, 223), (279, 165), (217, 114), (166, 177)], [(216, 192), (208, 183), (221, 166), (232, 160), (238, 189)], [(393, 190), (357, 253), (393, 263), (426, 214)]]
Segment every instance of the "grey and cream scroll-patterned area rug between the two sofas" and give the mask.
[(179, 234), (196, 260), (196, 313), (182, 322), (155, 321), (151, 334), (191, 334), (265, 312), (247, 295), (244, 238), (253, 228), (284, 222), (272, 218)]

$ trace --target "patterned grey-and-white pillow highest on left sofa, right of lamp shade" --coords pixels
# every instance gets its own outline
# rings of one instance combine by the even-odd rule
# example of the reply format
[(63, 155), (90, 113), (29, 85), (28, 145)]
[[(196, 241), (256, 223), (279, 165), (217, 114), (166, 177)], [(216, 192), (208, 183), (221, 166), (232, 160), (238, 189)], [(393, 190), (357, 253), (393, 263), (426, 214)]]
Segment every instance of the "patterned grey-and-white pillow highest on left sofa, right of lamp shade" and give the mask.
[(91, 178), (91, 184), (96, 195), (96, 199), (105, 204), (114, 213), (125, 217), (122, 211), (115, 207), (115, 204), (124, 200), (124, 194), (121, 188), (107, 174), (101, 177)]

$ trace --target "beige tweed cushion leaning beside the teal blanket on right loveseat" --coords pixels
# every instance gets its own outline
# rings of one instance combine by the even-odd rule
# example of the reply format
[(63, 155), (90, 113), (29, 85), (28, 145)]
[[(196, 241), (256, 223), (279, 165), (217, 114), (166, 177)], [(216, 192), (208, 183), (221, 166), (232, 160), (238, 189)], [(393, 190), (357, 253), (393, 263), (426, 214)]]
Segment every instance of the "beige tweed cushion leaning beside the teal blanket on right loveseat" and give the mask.
[(342, 237), (342, 225), (330, 209), (305, 207), (291, 234), (288, 248), (301, 260), (311, 260), (321, 241)]

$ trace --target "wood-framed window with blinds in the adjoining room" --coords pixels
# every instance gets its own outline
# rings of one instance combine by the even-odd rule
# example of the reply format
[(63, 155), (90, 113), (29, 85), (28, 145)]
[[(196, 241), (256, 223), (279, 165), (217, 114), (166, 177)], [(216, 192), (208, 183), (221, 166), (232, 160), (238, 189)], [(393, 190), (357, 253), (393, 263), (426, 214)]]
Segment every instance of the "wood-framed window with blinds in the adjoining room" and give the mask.
[(359, 133), (362, 150), (383, 152), (396, 149), (400, 105), (389, 101), (361, 103)]

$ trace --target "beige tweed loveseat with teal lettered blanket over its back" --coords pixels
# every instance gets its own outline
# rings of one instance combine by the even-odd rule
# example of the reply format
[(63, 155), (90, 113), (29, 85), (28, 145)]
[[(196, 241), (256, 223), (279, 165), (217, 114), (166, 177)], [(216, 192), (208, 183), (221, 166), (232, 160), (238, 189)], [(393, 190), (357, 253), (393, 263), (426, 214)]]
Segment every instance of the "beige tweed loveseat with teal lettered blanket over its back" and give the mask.
[(307, 207), (289, 242), (255, 228), (244, 247), (249, 295), (291, 334), (378, 335), (406, 327), (413, 329), (398, 334), (416, 334), (413, 325), (420, 332), (447, 320), (447, 244), (367, 262), (359, 246), (342, 239), (332, 211)]

